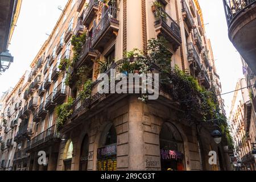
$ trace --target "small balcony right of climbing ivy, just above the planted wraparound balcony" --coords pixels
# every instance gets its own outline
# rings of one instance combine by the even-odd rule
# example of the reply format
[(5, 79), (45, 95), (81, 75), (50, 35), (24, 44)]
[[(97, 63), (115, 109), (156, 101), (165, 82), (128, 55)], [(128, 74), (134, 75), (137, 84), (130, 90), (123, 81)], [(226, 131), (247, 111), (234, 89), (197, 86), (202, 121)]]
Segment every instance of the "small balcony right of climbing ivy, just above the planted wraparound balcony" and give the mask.
[(87, 38), (84, 46), (82, 46), (82, 52), (79, 61), (77, 61), (75, 68), (81, 67), (83, 64), (92, 64), (92, 60), (97, 56), (96, 52), (92, 48), (92, 38)]

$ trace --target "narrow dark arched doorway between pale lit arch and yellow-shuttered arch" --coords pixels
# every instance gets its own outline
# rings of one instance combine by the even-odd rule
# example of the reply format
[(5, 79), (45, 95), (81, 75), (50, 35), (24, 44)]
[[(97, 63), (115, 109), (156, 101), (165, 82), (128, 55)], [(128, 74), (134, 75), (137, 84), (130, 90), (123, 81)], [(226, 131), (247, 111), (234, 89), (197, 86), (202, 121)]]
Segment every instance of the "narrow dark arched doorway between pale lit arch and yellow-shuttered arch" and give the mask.
[(80, 171), (87, 171), (88, 166), (88, 153), (89, 153), (89, 137), (85, 135), (82, 140), (81, 153), (80, 153)]

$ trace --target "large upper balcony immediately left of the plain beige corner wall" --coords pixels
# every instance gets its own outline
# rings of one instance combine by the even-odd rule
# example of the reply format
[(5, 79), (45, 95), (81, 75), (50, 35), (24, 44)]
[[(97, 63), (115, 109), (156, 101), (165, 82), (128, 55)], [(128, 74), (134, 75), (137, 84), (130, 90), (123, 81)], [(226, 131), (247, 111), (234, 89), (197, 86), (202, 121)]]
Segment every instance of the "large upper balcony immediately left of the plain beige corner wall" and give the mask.
[(113, 37), (115, 38), (119, 30), (119, 9), (110, 6), (102, 16), (100, 22), (93, 29), (93, 49), (103, 51), (103, 47)]

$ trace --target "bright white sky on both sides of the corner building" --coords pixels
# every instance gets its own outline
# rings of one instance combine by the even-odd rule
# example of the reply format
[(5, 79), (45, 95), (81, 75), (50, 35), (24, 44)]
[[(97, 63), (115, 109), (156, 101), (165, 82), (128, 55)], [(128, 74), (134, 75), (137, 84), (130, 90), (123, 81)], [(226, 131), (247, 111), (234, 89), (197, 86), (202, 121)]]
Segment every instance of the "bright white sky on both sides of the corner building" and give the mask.
[[(0, 76), (0, 94), (10, 86), (14, 87), (19, 78), (28, 69), (40, 47), (51, 34), (61, 11), (68, 0), (23, 0), (22, 9), (13, 39), (9, 46), (14, 56), (14, 63)], [(205, 30), (211, 40), (217, 72), (220, 75), (222, 93), (236, 88), (236, 82), (242, 75), (242, 63), (239, 53), (228, 39), (224, 7), (221, 0), (199, 0), (203, 11)], [(233, 94), (222, 96), (225, 100), (226, 113), (229, 114)]]

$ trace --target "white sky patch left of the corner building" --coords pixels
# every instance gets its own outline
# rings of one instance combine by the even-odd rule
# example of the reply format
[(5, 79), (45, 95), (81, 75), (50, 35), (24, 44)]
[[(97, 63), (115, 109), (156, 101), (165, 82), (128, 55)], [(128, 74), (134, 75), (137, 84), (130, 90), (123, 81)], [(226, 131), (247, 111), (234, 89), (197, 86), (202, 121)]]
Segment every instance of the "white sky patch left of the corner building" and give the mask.
[(14, 56), (14, 63), (0, 76), (0, 95), (14, 87), (19, 78), (30, 70), (40, 48), (51, 34), (61, 11), (68, 0), (23, 0), (18, 22), (14, 30), (9, 51)]

